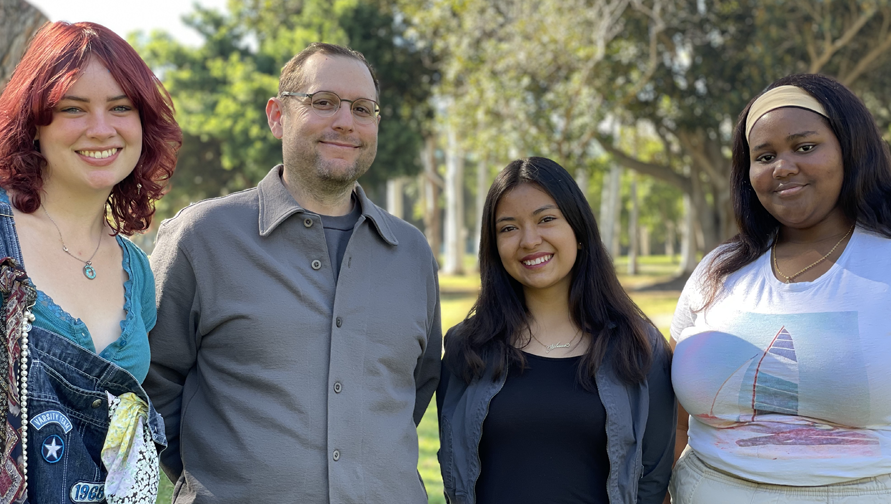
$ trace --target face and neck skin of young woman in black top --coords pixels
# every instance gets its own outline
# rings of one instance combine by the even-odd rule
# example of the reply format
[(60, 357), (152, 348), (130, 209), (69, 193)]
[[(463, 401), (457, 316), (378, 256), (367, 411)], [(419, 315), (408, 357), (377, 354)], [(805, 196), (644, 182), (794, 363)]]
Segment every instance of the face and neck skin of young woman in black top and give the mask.
[[(495, 207), (495, 232), (504, 269), (523, 286), (535, 336), (517, 344), (524, 352), (546, 357), (584, 354), (590, 337), (580, 334), (569, 309), (579, 244), (557, 202), (536, 185), (515, 187)], [(547, 345), (570, 342), (570, 348), (546, 351)]]

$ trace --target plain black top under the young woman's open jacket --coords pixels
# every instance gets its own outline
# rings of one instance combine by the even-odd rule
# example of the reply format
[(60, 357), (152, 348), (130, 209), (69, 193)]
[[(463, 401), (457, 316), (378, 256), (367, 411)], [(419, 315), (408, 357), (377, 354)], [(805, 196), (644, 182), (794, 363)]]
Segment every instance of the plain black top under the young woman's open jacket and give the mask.
[(606, 504), (606, 410), (578, 383), (581, 357), (524, 354), (489, 404), (479, 504)]

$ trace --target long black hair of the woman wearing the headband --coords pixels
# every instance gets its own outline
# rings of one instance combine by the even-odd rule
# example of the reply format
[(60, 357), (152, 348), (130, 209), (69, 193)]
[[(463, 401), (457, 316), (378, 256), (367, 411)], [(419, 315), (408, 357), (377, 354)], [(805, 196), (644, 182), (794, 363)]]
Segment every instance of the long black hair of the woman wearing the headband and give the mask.
[[(869, 110), (850, 89), (825, 75), (789, 75), (761, 94), (778, 86), (801, 88), (823, 105), (824, 119), (841, 146), (844, 179), (838, 206), (858, 226), (891, 238), (891, 153)], [(761, 205), (749, 182), (746, 118), (756, 99), (743, 109), (733, 133), (730, 190), (739, 234), (708, 265), (702, 308), (714, 302), (727, 275), (767, 252), (779, 232), (779, 221)]]

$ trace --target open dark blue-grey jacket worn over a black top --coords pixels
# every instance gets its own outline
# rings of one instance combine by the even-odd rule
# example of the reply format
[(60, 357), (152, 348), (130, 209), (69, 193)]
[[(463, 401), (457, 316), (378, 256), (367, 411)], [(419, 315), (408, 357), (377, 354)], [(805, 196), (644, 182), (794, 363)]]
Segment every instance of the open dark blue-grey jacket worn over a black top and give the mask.
[[(644, 383), (627, 385), (615, 375), (612, 349), (607, 350), (594, 377), (606, 410), (610, 504), (659, 504), (671, 476), (677, 425), (671, 352), (655, 328), (651, 327), (649, 336), (654, 349), (653, 364)], [(507, 373), (502, 373), (498, 380), (492, 376), (492, 366), (487, 366), (485, 374), (468, 385), (443, 364), (436, 391), (438, 456), (450, 504), (476, 504), (483, 422)]]

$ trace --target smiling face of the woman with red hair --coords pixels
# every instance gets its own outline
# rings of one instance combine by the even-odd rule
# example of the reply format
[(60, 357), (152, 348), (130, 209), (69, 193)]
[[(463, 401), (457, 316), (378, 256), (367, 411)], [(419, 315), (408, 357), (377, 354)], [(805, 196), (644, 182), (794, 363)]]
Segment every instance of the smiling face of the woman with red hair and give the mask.
[(45, 189), (59, 185), (107, 196), (139, 161), (142, 124), (108, 69), (91, 58), (36, 139), (47, 162)]

